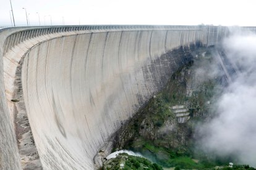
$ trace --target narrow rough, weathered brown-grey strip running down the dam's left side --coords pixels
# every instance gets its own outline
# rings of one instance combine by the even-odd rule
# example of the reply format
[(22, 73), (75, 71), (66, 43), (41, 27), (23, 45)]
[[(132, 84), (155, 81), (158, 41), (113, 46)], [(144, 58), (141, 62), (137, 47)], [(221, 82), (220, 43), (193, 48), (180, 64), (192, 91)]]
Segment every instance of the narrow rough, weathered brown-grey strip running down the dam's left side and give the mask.
[(23, 170), (40, 170), (41, 161), (36, 149), (35, 140), (33, 139), (32, 129), (28, 121), (27, 110), (23, 99), (23, 89), (21, 82), (23, 57), (19, 62), (16, 70), (14, 86), (16, 90), (12, 98), (17, 100), (14, 103), (14, 127), (19, 148), (19, 155), (21, 159)]

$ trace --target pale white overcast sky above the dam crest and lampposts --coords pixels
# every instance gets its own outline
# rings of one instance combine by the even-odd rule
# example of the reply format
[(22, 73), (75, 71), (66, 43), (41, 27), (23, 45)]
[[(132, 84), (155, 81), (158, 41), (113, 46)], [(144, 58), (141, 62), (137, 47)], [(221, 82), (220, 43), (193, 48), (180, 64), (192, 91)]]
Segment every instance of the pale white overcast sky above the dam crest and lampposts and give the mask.
[[(11, 25), (10, 1), (0, 1), (0, 25)], [(240, 25), (256, 26), (255, 0), (12, 0), (16, 25)], [(49, 16), (51, 15), (51, 17)]]

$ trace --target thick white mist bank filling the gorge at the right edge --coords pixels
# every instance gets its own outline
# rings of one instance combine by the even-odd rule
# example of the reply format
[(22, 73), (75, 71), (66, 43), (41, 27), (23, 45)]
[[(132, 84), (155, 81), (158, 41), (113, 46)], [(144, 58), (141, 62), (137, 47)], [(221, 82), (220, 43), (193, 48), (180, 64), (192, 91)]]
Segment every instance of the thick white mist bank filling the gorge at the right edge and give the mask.
[[(233, 33), (221, 43), (227, 67), (234, 68), (233, 79), (213, 103), (214, 118), (198, 126), (203, 136), (200, 148), (217, 156), (233, 155), (235, 164), (256, 167), (256, 34)], [(216, 69), (213, 73), (218, 73)]]

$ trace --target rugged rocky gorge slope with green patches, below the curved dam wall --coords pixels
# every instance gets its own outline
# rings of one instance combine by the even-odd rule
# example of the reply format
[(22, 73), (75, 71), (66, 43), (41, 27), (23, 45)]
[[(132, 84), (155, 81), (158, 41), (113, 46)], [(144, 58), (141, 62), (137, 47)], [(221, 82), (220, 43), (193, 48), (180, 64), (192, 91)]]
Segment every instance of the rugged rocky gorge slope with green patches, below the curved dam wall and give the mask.
[[(194, 56), (211, 50), (200, 48)], [(207, 73), (215, 63), (210, 52), (207, 54), (207, 57), (200, 55), (200, 59), (193, 57), (193, 61), (180, 67), (166, 86), (119, 129), (116, 149), (140, 152), (168, 167), (179, 164), (176, 158), (196, 155), (195, 124), (212, 116), (211, 102), (215, 103), (223, 91), (225, 78), (221, 73)], [(218, 64), (214, 65), (218, 69)]]

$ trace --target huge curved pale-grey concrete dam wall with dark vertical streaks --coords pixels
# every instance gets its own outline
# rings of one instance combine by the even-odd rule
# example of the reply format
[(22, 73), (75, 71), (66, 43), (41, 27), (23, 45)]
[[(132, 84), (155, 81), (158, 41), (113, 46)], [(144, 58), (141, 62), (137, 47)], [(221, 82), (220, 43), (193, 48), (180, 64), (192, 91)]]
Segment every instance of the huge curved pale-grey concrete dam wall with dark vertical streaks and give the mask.
[(43, 169), (93, 169), (96, 153), (190, 52), (226, 34), (220, 26), (0, 30), (0, 169), (22, 168), (21, 112)]

